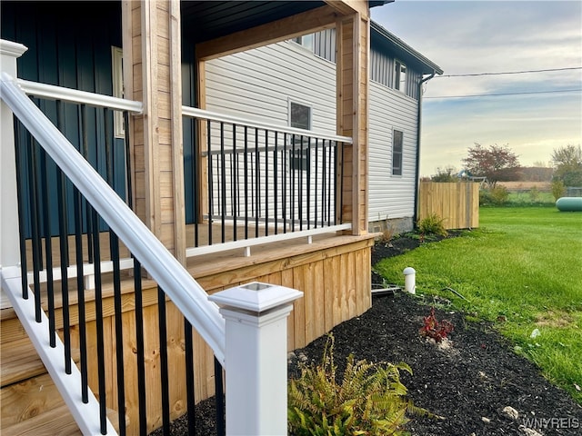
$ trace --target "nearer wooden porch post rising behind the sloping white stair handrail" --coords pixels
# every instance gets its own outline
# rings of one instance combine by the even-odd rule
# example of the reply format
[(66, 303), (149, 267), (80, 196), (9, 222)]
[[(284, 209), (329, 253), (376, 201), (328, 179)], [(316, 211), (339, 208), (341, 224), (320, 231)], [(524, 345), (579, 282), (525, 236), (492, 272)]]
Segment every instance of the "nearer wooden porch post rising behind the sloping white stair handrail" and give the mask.
[(130, 125), (135, 213), (186, 263), (180, 5), (124, 1), (125, 95), (144, 103)]

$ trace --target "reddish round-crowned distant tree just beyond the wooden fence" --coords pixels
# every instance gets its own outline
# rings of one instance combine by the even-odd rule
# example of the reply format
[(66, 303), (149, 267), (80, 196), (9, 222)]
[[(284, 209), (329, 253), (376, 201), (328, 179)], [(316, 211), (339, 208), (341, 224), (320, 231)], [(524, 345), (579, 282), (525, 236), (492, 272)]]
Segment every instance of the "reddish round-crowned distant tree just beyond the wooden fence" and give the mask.
[(468, 149), (468, 155), (463, 159), (465, 168), (476, 177), (487, 177), (487, 183), (494, 188), (497, 182), (519, 180), (519, 161), (506, 145), (489, 145), (488, 148), (475, 143)]

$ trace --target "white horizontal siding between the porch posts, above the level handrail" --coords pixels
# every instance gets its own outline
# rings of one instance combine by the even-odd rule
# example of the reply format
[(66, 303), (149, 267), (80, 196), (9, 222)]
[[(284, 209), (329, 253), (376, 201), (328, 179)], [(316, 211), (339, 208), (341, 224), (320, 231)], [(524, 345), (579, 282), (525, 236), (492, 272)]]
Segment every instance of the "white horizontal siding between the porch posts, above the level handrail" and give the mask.
[(206, 108), (287, 125), (288, 100), (312, 107), (312, 129), (336, 132), (336, 65), (292, 42), (206, 62)]

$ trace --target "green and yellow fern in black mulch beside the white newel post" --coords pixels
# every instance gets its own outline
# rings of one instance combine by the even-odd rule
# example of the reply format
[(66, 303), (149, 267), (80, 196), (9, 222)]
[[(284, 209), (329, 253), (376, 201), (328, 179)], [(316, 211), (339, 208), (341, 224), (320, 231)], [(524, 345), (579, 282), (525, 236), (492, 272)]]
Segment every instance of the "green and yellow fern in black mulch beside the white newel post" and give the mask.
[[(437, 417), (406, 398), (404, 363), (357, 361), (350, 354), (343, 380), (336, 381), (334, 337), (329, 334), (321, 364), (301, 365), (289, 381), (289, 431), (296, 436), (404, 435), (407, 415)], [(440, 417), (438, 417), (440, 418)]]

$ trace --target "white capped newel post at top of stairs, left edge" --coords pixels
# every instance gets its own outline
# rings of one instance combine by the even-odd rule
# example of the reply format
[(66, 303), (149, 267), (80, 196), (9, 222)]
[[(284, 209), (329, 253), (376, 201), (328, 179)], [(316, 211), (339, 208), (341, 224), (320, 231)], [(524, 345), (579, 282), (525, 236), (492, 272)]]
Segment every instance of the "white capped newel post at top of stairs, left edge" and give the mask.
[[(16, 59), (26, 50), (25, 45), (0, 39), (0, 72), (16, 78)], [(0, 268), (3, 268), (20, 263), (14, 118), (4, 101), (0, 106), (0, 130)]]

